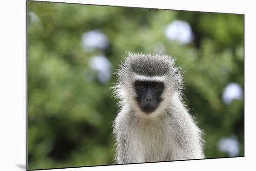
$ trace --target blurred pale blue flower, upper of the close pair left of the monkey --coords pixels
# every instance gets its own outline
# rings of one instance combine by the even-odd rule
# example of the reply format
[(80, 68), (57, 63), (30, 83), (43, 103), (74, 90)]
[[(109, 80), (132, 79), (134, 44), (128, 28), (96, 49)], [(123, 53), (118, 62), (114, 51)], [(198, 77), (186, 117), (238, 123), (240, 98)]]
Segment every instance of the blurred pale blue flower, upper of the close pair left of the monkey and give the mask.
[(108, 37), (99, 30), (92, 30), (82, 34), (82, 47), (86, 52), (92, 52), (96, 48), (108, 47)]

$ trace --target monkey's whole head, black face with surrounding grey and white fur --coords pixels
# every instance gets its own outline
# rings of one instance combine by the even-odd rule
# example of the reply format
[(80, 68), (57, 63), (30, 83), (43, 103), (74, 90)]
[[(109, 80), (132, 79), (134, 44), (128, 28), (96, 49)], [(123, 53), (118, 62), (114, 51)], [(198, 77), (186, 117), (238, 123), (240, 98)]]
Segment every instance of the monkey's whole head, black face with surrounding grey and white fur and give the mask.
[(175, 60), (163, 54), (128, 53), (116, 72), (115, 96), (120, 106), (129, 105), (145, 114), (161, 112), (180, 98), (182, 77)]

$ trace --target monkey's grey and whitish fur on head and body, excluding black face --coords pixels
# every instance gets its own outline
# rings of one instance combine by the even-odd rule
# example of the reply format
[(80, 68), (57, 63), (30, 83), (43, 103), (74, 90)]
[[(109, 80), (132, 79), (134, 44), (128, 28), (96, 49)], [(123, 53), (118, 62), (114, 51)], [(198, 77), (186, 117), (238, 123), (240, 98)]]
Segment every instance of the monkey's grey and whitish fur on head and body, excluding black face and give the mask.
[[(202, 131), (182, 103), (183, 81), (177, 71), (167, 55), (128, 53), (114, 86), (120, 99), (113, 125), (117, 164), (204, 158)], [(135, 100), (136, 75), (164, 80), (163, 101), (148, 115)]]

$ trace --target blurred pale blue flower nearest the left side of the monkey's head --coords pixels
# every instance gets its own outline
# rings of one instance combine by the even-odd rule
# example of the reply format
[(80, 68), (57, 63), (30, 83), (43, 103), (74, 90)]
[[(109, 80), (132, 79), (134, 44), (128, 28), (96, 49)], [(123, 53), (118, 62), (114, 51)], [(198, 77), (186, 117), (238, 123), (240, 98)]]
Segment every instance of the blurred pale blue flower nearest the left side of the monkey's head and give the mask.
[(105, 56), (94, 56), (89, 59), (89, 67), (96, 71), (96, 77), (101, 83), (111, 78), (111, 63)]

